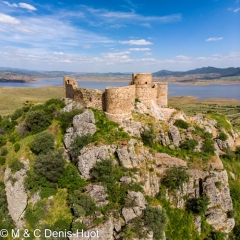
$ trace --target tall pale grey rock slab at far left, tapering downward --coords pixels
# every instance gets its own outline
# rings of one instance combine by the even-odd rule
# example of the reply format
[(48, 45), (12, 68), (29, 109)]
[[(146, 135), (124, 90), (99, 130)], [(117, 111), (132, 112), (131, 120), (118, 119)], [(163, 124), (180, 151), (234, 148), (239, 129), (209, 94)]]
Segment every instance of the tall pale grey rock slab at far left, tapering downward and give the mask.
[(28, 163), (24, 162), (24, 168), (16, 173), (11, 173), (7, 168), (4, 174), (5, 190), (7, 195), (8, 210), (17, 228), (22, 228), (21, 216), (27, 207), (27, 191), (24, 188), (24, 178), (29, 169)]

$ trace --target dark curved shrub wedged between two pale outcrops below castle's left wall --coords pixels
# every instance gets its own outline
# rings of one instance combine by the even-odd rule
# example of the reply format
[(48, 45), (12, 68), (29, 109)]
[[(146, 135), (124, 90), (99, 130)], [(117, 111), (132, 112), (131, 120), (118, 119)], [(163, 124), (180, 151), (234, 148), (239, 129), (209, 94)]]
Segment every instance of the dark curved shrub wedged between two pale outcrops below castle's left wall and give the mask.
[(70, 146), (70, 154), (72, 157), (72, 161), (76, 163), (77, 157), (80, 154), (80, 151), (83, 147), (88, 145), (92, 141), (92, 136), (90, 134), (83, 136), (76, 136)]

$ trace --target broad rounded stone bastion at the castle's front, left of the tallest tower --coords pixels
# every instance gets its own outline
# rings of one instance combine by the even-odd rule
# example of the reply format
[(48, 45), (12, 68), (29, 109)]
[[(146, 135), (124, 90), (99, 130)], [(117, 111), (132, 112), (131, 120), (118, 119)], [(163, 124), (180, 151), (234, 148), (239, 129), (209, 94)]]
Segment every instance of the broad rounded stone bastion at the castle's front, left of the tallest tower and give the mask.
[(106, 116), (114, 121), (131, 117), (132, 103), (135, 99), (135, 86), (106, 88)]

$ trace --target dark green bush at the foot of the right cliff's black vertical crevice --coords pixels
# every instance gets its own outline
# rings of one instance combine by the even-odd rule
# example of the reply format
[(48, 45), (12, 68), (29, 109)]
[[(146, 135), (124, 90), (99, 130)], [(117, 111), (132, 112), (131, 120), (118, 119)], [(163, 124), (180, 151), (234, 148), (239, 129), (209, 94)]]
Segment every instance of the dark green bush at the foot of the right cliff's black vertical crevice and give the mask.
[(207, 211), (207, 206), (210, 203), (208, 196), (202, 195), (199, 198), (192, 198), (187, 201), (186, 208), (194, 214), (204, 214)]

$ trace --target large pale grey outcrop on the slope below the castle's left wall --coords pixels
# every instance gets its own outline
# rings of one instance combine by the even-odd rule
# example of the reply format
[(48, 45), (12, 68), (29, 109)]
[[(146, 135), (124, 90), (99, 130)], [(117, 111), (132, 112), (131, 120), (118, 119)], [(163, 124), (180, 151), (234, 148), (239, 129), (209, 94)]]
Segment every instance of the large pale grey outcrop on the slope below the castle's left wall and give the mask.
[(64, 136), (64, 144), (68, 149), (76, 136), (93, 135), (96, 132), (95, 118), (91, 110), (85, 109), (83, 113), (74, 116), (73, 127), (68, 128)]

